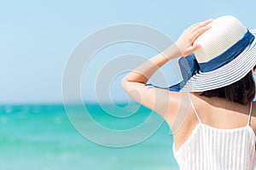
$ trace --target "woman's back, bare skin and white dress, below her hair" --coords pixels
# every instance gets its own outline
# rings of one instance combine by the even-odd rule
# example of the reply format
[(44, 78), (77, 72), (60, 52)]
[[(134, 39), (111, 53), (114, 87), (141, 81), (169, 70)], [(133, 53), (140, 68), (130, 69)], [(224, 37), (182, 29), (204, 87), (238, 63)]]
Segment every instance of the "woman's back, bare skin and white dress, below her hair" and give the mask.
[(196, 95), (192, 101), (183, 126), (173, 135), (172, 149), (180, 168), (253, 169), (253, 103), (238, 105)]

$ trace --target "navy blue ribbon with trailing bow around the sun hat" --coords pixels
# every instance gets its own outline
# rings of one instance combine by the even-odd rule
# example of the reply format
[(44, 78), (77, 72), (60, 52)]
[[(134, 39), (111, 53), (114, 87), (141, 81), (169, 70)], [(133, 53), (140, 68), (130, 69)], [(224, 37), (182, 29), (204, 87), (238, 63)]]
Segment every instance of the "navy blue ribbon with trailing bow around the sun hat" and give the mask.
[[(217, 57), (205, 63), (198, 63), (197, 60), (195, 59), (195, 54), (189, 54), (186, 57), (181, 57), (178, 60), (178, 65), (182, 73), (183, 81), (163, 89), (179, 92), (185, 86), (186, 82), (188, 82), (189, 79), (193, 77), (195, 74), (199, 73), (199, 71), (201, 72), (214, 71), (222, 67), (223, 65), (228, 64), (231, 60), (236, 59), (236, 57), (239, 54), (241, 54), (241, 52), (245, 48), (247, 48), (247, 46), (251, 44), (253, 40), (254, 40), (253, 34), (247, 30), (247, 33), (244, 35), (244, 37), (241, 38), (241, 40), (236, 42), (233, 46), (227, 49), (223, 54), (220, 54)], [(162, 88), (159, 86), (155, 86), (152, 83), (147, 83), (146, 86)]]

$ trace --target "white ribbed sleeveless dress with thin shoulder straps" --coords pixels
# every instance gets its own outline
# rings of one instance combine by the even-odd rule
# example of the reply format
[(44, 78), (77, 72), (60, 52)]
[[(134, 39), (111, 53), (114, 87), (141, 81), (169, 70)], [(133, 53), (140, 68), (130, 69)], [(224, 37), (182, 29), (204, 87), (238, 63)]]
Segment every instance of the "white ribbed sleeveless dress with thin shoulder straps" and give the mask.
[[(191, 100), (192, 102), (192, 100)], [(192, 102), (192, 108), (195, 106)], [(172, 145), (173, 155), (180, 169), (218, 170), (218, 169), (254, 169), (255, 135), (249, 125), (252, 104), (247, 126), (234, 129), (211, 127), (201, 122), (178, 149)]]

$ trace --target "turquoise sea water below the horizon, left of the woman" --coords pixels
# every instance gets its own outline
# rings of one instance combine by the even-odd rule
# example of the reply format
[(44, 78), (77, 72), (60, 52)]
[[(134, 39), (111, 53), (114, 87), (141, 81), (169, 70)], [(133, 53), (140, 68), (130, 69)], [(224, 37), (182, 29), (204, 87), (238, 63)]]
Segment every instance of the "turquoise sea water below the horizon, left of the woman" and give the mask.
[[(178, 169), (166, 123), (152, 111), (134, 107), (135, 110), (124, 110), (124, 105), (119, 109), (111, 105), (104, 105), (104, 109), (100, 105), (86, 105), (95, 122), (92, 125), (76, 105), (2, 105), (0, 169)], [(143, 130), (137, 130), (147, 123)], [(105, 131), (96, 126), (105, 127)], [(148, 131), (151, 127), (153, 130)], [(121, 133), (113, 136), (109, 133), (111, 129)], [(123, 135), (127, 129), (134, 133)], [(147, 138), (140, 139), (141, 136)]]

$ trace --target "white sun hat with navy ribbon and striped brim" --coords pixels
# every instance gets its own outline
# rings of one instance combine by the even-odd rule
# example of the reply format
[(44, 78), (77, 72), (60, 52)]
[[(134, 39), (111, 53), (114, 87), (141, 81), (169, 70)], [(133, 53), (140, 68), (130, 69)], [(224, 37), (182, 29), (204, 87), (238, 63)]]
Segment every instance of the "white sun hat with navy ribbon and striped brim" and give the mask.
[(223, 88), (241, 80), (256, 65), (255, 30), (247, 30), (231, 15), (219, 17), (210, 25), (194, 42), (201, 48), (179, 59), (183, 82), (166, 89), (203, 92)]

